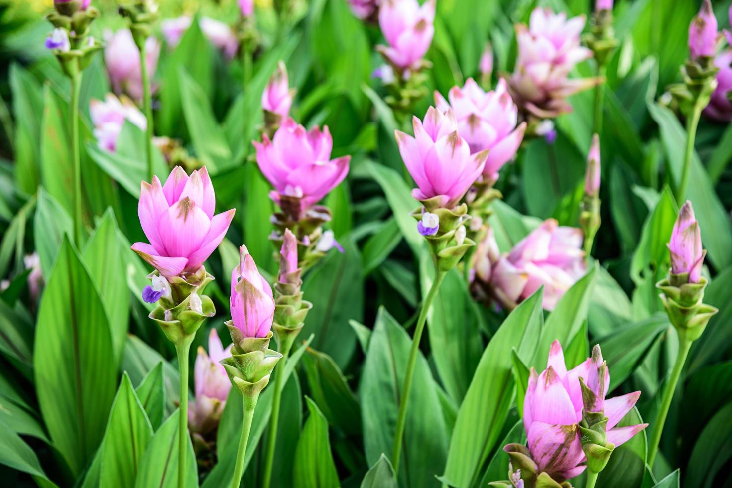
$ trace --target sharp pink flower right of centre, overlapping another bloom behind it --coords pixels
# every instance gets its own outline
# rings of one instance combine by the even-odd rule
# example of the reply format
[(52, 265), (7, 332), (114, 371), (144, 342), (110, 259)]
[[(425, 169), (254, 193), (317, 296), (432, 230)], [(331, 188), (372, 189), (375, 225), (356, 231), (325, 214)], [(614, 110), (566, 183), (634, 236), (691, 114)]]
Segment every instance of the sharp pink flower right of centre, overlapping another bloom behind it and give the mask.
[(436, 206), (452, 209), (482, 173), (487, 152), (470, 154), (452, 109), (442, 113), (430, 107), (424, 122), (415, 116), (412, 125), (414, 137), (395, 132), (404, 164), (417, 183), (412, 196), (419, 201), (434, 198)]

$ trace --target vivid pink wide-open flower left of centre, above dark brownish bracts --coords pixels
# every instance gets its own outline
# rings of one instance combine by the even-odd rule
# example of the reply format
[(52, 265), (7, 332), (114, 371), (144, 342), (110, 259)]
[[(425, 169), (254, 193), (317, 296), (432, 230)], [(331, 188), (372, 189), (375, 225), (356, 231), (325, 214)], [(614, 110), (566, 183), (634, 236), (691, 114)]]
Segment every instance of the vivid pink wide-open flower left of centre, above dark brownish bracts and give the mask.
[(301, 198), (305, 209), (346, 178), (351, 161), (350, 156), (330, 159), (333, 140), (328, 126), (308, 132), (291, 118), (285, 119), (272, 140), (265, 134), (264, 141), (254, 146), (259, 168), (275, 187), (272, 199), (280, 203), (280, 195)]

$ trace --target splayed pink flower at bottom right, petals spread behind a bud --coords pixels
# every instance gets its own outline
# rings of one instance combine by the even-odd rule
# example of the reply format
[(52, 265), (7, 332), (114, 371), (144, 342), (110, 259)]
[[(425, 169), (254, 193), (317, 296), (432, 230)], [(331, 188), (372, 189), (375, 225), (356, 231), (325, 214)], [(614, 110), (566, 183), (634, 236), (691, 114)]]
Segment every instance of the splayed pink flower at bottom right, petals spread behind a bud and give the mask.
[[(556, 481), (574, 478), (586, 468), (580, 465), (586, 457), (577, 425), (583, 416), (580, 378), (599, 397), (594, 407), (604, 409), (608, 418), (608, 442), (620, 446), (648, 427), (648, 424), (616, 427), (638, 402), (641, 392), (605, 400), (610, 375), (606, 367), (600, 369), (602, 356), (599, 349), (599, 357), (588, 358), (567, 371), (561, 344), (555, 340), (549, 350), (547, 369), (537, 375), (536, 370), (531, 368), (529, 387), (523, 402), (523, 426), (537, 473), (544, 471)], [(599, 378), (598, 371), (603, 370), (605, 378)]]

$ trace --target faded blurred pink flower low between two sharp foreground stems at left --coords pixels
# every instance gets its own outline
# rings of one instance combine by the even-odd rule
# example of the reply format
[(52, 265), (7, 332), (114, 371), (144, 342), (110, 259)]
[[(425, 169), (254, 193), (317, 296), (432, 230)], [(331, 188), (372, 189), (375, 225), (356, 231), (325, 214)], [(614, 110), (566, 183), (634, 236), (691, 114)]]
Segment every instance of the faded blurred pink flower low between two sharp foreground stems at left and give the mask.
[(219, 334), (211, 329), (209, 353), (206, 354), (203, 346), (198, 346), (193, 369), (195, 402), (188, 410), (188, 425), (193, 432), (206, 435), (217, 426), (221, 418), (231, 390), (231, 380), (219, 361), (229, 356), (231, 345), (224, 349)]

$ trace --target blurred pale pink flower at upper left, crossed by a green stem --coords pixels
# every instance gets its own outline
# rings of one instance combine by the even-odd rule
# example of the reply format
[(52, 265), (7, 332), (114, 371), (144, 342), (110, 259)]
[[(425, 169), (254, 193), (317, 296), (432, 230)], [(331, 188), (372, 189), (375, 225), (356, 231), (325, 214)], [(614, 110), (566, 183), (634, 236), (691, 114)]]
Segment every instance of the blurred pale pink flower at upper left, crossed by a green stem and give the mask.
[[(114, 34), (105, 34), (104, 62), (107, 66), (112, 89), (116, 94), (126, 93), (133, 100), (142, 100), (143, 83), (140, 67), (140, 51), (132, 39), (130, 29), (120, 29)], [(145, 61), (150, 79), (154, 78), (157, 59), (160, 57), (160, 42), (149, 37), (145, 42)]]

